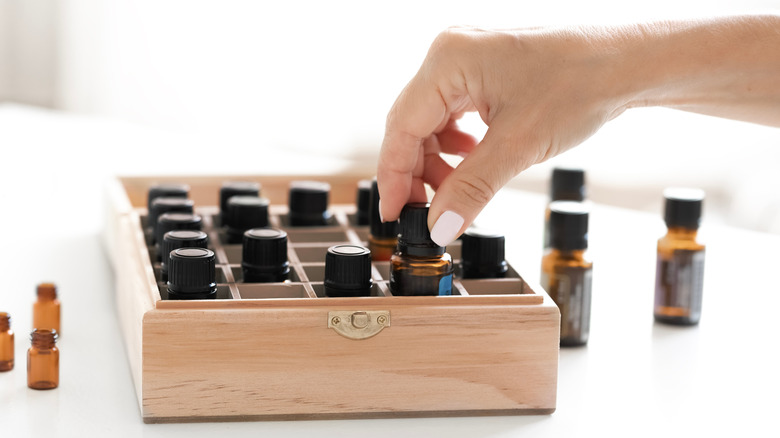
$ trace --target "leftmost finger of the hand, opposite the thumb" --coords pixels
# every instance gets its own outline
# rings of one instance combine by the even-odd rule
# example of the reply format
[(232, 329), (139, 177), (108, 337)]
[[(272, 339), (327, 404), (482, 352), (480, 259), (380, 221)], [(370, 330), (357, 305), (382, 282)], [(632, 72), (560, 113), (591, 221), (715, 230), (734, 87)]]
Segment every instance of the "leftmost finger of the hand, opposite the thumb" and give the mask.
[(424, 193), (420, 151), (425, 138), (446, 117), (447, 105), (438, 87), (419, 73), (390, 109), (376, 172), (380, 214), (385, 221), (398, 219), (412, 194)]

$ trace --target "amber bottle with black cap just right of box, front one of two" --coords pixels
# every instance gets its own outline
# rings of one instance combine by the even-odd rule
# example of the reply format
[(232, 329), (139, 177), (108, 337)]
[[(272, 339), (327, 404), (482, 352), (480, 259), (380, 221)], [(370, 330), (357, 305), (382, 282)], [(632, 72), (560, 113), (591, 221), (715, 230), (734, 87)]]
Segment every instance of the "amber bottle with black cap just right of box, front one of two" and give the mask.
[(591, 278), (588, 209), (579, 202), (550, 204), (550, 247), (541, 285), (561, 311), (561, 346), (585, 345), (590, 334)]

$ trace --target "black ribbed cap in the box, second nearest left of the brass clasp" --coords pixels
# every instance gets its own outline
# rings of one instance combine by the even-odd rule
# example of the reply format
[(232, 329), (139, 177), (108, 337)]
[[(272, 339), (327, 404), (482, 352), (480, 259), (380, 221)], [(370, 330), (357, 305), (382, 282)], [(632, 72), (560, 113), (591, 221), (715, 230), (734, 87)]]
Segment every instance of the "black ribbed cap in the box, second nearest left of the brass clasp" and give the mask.
[(260, 272), (289, 272), (287, 233), (276, 228), (247, 230), (244, 233), (241, 266)]

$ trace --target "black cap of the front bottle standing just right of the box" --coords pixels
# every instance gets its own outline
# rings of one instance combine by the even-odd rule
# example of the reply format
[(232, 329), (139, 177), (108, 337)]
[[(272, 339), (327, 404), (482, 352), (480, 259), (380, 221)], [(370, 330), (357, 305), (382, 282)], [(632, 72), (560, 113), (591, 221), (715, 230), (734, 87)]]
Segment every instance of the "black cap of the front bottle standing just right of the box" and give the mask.
[(581, 202), (550, 203), (550, 246), (561, 251), (588, 247), (588, 208)]

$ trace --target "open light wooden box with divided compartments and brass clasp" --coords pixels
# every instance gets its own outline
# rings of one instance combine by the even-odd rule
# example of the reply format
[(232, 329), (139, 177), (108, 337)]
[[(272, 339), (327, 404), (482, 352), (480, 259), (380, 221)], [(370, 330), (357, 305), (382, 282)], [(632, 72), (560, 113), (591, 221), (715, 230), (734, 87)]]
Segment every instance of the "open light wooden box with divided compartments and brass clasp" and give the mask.
[[(357, 176), (331, 184), (332, 226), (285, 227), (290, 181), (312, 177), (119, 178), (105, 232), (118, 313), (145, 422), (549, 414), (555, 410), (559, 312), (513, 268), (507, 278), (456, 280), (452, 296), (394, 297), (387, 262), (371, 297), (327, 298), (331, 245), (362, 243)], [(289, 235), (291, 281), (241, 282), (240, 245), (215, 226), (226, 180), (262, 184), (272, 226)], [(218, 299), (161, 299), (144, 224), (148, 188), (183, 182), (217, 255)], [(508, 244), (511, 245), (511, 242)], [(448, 248), (457, 263), (458, 244)], [(337, 330), (372, 323), (353, 339)]]

